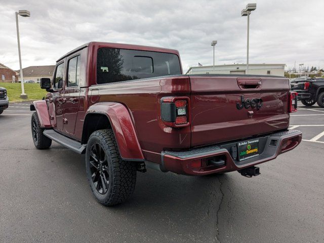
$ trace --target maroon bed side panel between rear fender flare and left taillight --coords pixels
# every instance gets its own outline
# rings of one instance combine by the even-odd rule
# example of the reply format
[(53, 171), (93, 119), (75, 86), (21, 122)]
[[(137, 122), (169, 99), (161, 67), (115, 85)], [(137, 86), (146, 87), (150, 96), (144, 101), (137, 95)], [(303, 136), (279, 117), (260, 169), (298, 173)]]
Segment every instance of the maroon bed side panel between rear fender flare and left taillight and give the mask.
[(190, 85), (186, 76), (132, 80), (96, 85), (90, 89), (99, 90), (98, 102), (117, 102), (128, 108), (144, 152), (160, 153), (166, 148), (190, 147), (190, 127), (169, 128), (160, 119), (162, 97), (189, 95)]

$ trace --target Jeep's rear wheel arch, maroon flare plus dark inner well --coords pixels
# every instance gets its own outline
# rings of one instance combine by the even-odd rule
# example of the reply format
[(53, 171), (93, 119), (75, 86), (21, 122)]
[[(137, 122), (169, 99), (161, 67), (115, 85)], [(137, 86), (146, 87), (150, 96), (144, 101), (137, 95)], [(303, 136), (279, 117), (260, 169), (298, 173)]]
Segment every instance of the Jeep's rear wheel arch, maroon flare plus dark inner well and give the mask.
[(144, 160), (131, 115), (120, 103), (102, 102), (89, 107), (84, 121), (82, 144), (88, 142), (93, 132), (110, 128), (113, 130), (121, 158)]

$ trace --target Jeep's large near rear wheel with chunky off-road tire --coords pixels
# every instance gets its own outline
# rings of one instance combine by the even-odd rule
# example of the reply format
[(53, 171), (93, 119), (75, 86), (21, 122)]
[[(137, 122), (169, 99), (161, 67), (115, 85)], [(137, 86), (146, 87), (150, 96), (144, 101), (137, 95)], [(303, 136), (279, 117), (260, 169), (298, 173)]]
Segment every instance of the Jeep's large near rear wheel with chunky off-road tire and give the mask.
[[(100, 149), (97, 148), (99, 145), (101, 146)], [(95, 155), (96, 150), (103, 150), (104, 155), (102, 152)], [(94, 157), (97, 158), (97, 161)], [(99, 203), (105, 206), (121, 204), (134, 192), (136, 163), (121, 159), (111, 129), (98, 130), (90, 135), (86, 151), (86, 171), (94, 196)], [(106, 180), (107, 177), (108, 181)], [(97, 182), (95, 182), (96, 178)]]

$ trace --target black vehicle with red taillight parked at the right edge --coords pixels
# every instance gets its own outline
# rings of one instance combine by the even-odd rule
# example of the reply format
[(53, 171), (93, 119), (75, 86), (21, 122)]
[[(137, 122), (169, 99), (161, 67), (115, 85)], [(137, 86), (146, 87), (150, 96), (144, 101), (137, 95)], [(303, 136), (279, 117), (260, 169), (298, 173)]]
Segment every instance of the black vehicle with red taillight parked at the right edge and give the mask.
[(291, 81), (291, 90), (298, 92), (298, 100), (303, 105), (317, 104), (324, 108), (324, 78), (295, 78)]

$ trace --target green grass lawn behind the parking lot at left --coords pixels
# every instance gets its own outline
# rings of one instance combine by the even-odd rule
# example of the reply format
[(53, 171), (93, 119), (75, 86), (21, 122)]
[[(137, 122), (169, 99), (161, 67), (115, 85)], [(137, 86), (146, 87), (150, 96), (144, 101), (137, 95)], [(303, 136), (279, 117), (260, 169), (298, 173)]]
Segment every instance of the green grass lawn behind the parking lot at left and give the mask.
[[(25, 101), (20, 98), (21, 84), (20, 83), (0, 83), (0, 87), (7, 89), (9, 101)], [(24, 84), (27, 100), (41, 100), (46, 95), (46, 90), (41, 89), (39, 84)]]

